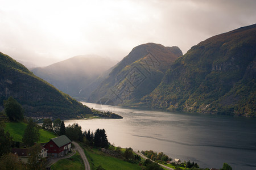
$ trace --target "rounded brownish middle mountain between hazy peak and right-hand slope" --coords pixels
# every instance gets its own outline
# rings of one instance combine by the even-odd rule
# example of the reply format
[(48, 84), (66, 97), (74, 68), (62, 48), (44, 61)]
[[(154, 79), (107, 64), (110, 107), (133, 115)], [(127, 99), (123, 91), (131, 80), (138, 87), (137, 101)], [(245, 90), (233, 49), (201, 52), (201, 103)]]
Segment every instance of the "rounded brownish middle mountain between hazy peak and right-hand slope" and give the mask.
[(109, 76), (92, 92), (90, 102), (130, 105), (150, 94), (179, 56), (177, 46), (147, 43), (136, 46), (114, 66)]

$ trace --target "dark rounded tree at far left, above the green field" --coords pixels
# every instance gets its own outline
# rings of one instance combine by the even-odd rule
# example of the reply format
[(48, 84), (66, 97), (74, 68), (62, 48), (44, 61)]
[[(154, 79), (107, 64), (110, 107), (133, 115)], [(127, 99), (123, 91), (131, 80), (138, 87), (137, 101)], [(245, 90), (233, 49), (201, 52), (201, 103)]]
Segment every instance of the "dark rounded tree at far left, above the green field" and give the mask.
[(3, 106), (5, 107), (5, 113), (10, 121), (23, 120), (24, 109), (12, 96), (3, 101)]

